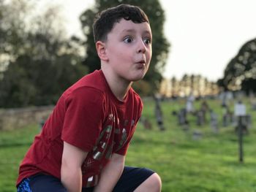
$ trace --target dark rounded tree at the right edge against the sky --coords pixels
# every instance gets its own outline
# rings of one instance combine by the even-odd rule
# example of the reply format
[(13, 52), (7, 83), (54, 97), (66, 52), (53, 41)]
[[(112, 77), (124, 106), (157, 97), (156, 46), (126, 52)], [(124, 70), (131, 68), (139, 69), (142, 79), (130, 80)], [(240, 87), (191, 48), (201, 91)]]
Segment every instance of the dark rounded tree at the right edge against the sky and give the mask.
[(225, 90), (256, 91), (252, 83), (256, 81), (256, 39), (246, 42), (238, 54), (227, 64), (224, 77), (218, 85)]

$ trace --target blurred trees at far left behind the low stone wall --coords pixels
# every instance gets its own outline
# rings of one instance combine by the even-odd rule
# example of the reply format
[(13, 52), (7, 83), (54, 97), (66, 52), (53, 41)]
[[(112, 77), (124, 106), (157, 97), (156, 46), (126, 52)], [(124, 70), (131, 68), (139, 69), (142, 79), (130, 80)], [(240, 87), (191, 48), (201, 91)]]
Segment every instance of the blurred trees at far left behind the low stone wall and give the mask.
[[(6, 6), (9, 14), (3, 18), (9, 20), (15, 7)], [(11, 20), (15, 25), (3, 24), (0, 31), (15, 31), (22, 26), (20, 22), (26, 20), (26, 14), (15, 10), (22, 17)], [(60, 32), (64, 30), (55, 27), (60, 26), (56, 25), (58, 16), (58, 10), (50, 7), (42, 15), (36, 15), (29, 28), (19, 28), (19, 32), (1, 39), (9, 48), (1, 49), (0, 56), (8, 55), (10, 61), (0, 80), (0, 107), (55, 104), (65, 89), (87, 73), (78, 55), (77, 39), (64, 39)]]

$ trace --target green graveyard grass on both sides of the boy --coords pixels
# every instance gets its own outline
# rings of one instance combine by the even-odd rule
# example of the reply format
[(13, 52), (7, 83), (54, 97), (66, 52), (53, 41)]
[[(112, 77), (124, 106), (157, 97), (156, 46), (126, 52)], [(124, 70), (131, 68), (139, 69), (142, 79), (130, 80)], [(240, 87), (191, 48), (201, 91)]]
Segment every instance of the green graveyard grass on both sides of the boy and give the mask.
[[(196, 126), (193, 116), (189, 116), (189, 132), (182, 131), (176, 117), (171, 115), (173, 110), (184, 106), (182, 100), (162, 102), (166, 131), (159, 131), (154, 118), (154, 102), (144, 101), (143, 117), (151, 121), (153, 128), (146, 130), (138, 124), (129, 147), (127, 165), (154, 169), (162, 177), (163, 192), (256, 191), (256, 112), (247, 107), (253, 123), (249, 134), (244, 135), (244, 163), (239, 163), (238, 137), (233, 126), (221, 126), (219, 101), (210, 100), (208, 104), (219, 113), (219, 134), (211, 131), (209, 123)], [(197, 101), (196, 107), (199, 106)], [(195, 130), (203, 133), (200, 139), (193, 139)], [(18, 165), (38, 132), (37, 125), (0, 132), (0, 191), (15, 191)]]

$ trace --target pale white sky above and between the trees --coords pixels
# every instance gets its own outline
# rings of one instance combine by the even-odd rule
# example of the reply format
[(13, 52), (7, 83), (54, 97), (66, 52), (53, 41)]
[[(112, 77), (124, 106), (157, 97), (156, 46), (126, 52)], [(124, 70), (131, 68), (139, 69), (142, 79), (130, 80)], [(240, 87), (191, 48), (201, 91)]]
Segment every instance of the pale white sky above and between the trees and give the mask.
[[(82, 37), (78, 17), (94, 0), (41, 1), (61, 4), (68, 34)], [(159, 1), (165, 10), (164, 34), (171, 45), (166, 78), (200, 74), (216, 81), (241, 46), (256, 38), (255, 0)]]

